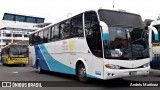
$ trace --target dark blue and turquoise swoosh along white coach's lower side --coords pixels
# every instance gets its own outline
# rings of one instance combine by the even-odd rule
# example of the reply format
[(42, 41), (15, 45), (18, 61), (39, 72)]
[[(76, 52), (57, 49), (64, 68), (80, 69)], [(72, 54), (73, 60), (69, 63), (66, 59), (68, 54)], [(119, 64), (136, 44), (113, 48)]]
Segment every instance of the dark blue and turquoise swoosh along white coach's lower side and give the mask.
[[(50, 67), (50, 71), (76, 75), (76, 70), (74, 68), (71, 68), (67, 65), (64, 65), (63, 63), (60, 63), (59, 61), (54, 59), (48, 53), (48, 51), (44, 45), (39, 45), (39, 46), (36, 45), (35, 52), (36, 52), (36, 58), (39, 58), (40, 63), (43, 63), (43, 65), (41, 64), (42, 69), (49, 70), (49, 67)], [(47, 63), (48, 63), (48, 66), (47, 66)], [(36, 64), (34, 65), (34, 67), (36, 67)], [(100, 78), (93, 76), (93, 75), (90, 75), (90, 74), (86, 74), (86, 76), (90, 77), (90, 78), (100, 79)]]

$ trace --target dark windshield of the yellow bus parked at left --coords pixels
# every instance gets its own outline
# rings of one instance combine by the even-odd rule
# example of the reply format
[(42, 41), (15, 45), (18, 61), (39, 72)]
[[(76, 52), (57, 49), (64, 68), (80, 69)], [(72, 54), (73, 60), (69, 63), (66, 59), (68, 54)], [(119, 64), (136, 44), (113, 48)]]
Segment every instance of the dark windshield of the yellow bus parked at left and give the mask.
[(11, 46), (10, 55), (12, 57), (28, 57), (28, 47), (27, 46)]

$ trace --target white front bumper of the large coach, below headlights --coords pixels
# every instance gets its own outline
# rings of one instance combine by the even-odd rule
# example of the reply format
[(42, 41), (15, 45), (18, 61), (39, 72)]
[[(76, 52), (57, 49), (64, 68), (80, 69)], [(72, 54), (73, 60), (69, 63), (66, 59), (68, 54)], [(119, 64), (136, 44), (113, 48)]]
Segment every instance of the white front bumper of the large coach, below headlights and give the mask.
[(104, 80), (138, 75), (146, 76), (149, 72), (150, 67), (138, 69), (106, 69), (104, 73)]

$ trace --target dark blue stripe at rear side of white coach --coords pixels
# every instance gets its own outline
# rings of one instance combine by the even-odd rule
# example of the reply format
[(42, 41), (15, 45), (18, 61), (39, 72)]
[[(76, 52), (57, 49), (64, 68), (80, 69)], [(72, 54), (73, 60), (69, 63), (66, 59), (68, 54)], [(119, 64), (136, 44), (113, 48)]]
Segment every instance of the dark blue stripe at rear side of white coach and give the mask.
[[(45, 61), (45, 58), (43, 57), (43, 53), (41, 52), (39, 46), (35, 45), (34, 49), (35, 49), (35, 53), (36, 53), (36, 60), (39, 60), (40, 64), (43, 63), (43, 65), (40, 65), (40, 68), (44, 69), (44, 70), (49, 70), (47, 62)], [(34, 67), (37, 68), (37, 61), (34, 64)]]

